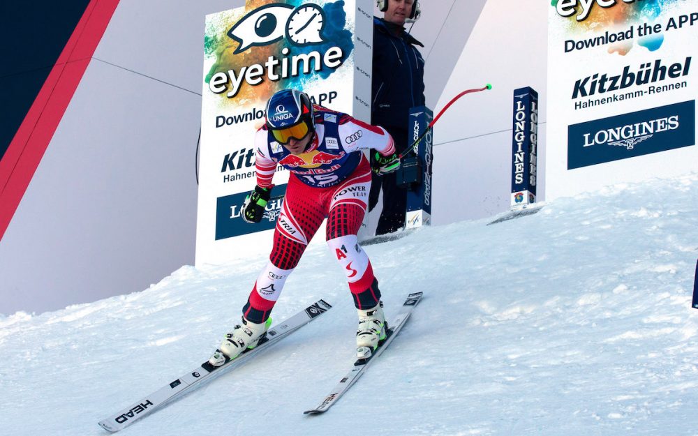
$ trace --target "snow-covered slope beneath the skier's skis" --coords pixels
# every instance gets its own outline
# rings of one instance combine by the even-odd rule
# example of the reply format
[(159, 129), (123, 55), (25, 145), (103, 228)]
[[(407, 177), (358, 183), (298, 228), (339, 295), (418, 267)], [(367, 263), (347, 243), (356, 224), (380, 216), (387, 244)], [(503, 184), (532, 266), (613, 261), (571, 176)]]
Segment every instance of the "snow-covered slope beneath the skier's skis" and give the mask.
[[(558, 199), (535, 215), (368, 246), (391, 347), (326, 414), (356, 315), (309, 248), (274, 310), (334, 308), (124, 435), (697, 435), (698, 173)], [(264, 257), (183, 266), (143, 292), (0, 316), (0, 433), (105, 435), (104, 419), (205, 361)], [(123, 271), (127, 274), (128, 271)]]

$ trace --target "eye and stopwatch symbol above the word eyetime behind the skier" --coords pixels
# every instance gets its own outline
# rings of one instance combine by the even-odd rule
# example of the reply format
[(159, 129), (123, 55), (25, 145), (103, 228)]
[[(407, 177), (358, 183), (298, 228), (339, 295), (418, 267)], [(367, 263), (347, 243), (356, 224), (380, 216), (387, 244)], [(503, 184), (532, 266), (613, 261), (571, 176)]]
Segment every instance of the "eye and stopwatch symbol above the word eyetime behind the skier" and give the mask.
[(298, 8), (285, 3), (272, 3), (248, 13), (228, 31), (240, 45), (233, 54), (250, 47), (269, 45), (288, 38), (294, 45), (324, 42), (320, 33), (325, 28), (325, 11), (307, 3)]

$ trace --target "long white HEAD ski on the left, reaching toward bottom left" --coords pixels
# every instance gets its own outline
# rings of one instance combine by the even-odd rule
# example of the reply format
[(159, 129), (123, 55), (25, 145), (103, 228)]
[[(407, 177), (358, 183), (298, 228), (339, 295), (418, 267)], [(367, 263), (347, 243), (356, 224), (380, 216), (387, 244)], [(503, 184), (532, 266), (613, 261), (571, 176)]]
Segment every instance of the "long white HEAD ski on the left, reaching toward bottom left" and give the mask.
[(228, 359), (221, 366), (212, 366), (209, 361), (205, 361), (198, 366), (198, 368), (175, 379), (173, 382), (138, 401), (138, 403), (134, 403), (109, 418), (99, 421), (99, 425), (111, 433), (115, 433), (131, 425), (137, 419), (141, 419), (143, 416), (151, 414), (156, 409), (161, 408), (165, 403), (169, 403), (175, 398), (183, 396), (184, 393), (193, 391), (205, 380), (212, 379), (231, 368), (242, 365), (242, 363), (245, 363), (252, 359), (253, 356), (259, 354), (262, 349), (266, 349), (270, 345), (279, 342), (279, 340), (285, 338), (293, 331), (315, 320), (316, 317), (325, 313), (329, 308), (332, 308), (332, 306), (324, 300), (311, 304), (311, 306), (308, 306), (304, 310), (288, 318), (288, 320), (285, 320), (281, 324), (276, 324), (269, 329), (265, 338), (262, 338), (260, 343), (253, 349), (246, 349), (242, 354), (237, 356), (237, 358), (232, 360)]

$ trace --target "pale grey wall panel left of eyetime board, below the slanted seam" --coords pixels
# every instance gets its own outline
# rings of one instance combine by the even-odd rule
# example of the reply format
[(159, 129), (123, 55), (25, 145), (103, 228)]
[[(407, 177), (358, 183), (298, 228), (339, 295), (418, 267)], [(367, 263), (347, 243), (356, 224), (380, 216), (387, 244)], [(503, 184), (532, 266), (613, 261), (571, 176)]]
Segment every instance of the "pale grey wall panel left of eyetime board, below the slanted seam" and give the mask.
[(0, 243), (1, 313), (142, 290), (193, 262), (199, 101), (90, 64)]

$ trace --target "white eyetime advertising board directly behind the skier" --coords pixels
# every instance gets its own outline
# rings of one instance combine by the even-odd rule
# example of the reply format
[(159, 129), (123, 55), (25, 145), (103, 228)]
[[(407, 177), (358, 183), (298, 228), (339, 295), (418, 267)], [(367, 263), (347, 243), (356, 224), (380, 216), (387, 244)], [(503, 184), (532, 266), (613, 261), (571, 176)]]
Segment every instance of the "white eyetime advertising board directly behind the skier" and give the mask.
[(256, 183), (254, 136), (274, 92), (299, 89), (370, 121), (372, 32), (371, 0), (248, 0), (207, 15), (196, 264), (272, 246), (288, 172), (277, 169), (261, 224), (245, 223), (240, 204)]

